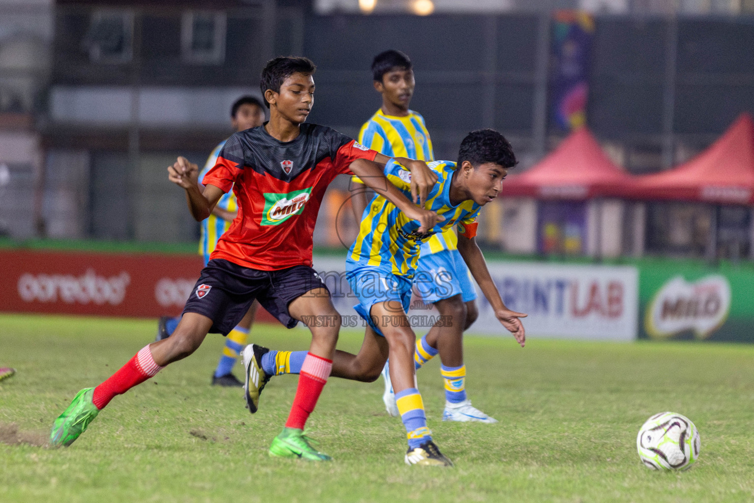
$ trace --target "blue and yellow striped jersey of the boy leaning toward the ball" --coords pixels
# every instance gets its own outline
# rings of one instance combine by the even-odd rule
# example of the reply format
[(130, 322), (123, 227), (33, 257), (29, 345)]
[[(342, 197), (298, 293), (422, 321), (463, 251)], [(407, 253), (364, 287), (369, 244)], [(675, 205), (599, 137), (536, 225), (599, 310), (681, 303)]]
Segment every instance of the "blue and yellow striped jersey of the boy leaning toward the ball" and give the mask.
[[(445, 221), (438, 222), (431, 233), (437, 235), (458, 224), (458, 232), (474, 237), (481, 206), (472, 200), (462, 201), (457, 206), (450, 202), (455, 163), (438, 160), (429, 163), (429, 167), (437, 173), (437, 184), (429, 194), (425, 208), (445, 217)], [(391, 160), (385, 165), (385, 175), (403, 194), (411, 197), (409, 171)], [(385, 197), (376, 195), (364, 212), (359, 236), (348, 252), (346, 270), (362, 266), (379, 267), (397, 276), (412, 278), (418, 262), (418, 248), (426, 240), (417, 236), (418, 228), (417, 221), (406, 217)]]

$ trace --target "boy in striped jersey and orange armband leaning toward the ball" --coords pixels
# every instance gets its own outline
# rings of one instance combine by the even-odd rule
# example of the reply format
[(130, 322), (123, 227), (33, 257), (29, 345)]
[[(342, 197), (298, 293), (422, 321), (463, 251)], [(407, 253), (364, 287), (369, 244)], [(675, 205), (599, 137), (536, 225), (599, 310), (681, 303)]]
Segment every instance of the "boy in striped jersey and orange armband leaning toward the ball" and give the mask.
[[(461, 143), (458, 163), (440, 160), (428, 165), (437, 175), (437, 184), (425, 203), (425, 209), (437, 213), (438, 222), (434, 227), (422, 233), (418, 221), (407, 217), (378, 194), (364, 212), (359, 235), (348, 252), (346, 279), (359, 300), (354, 309), (367, 327), (359, 354), (336, 351), (330, 375), (372, 382), (390, 358), (391, 381), (409, 444), (404, 459), (409, 465), (452, 465), (432, 440), (424, 404), (415, 384), (415, 334), (406, 312), (420, 245), (457, 225), (458, 252), (489, 300), (495, 316), (521, 346), (525, 343), (520, 318), (526, 315), (507, 309), (474, 239), (480, 208), (498, 197), (507, 169), (515, 165), (513, 149), (500, 133), (494, 130), (469, 133)], [(403, 166), (391, 160), (385, 165), (385, 175), (404, 194), (410, 194), (411, 173)], [(461, 332), (462, 327), (456, 326), (455, 330)], [(256, 353), (262, 355), (255, 364), (260, 383), (267, 383), (271, 376), (283, 373), (276, 367), (279, 352), (263, 349)], [(290, 358), (294, 355), (295, 352)]]

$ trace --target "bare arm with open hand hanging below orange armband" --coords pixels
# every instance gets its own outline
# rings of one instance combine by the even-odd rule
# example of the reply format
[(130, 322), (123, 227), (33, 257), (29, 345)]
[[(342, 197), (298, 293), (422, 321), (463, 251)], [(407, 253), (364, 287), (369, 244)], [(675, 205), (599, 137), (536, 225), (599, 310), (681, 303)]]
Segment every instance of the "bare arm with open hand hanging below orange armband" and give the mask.
[(482, 289), (482, 293), (489, 300), (490, 306), (495, 310), (495, 317), (513, 334), (513, 337), (516, 337), (516, 342), (523, 347), (526, 343), (526, 331), (524, 331), (520, 318), (526, 318), (526, 314), (511, 311), (503, 303), (498, 287), (495, 286), (492, 276), (489, 275), (489, 269), (487, 269), (482, 250), (477, 245), (477, 239), (467, 238), (458, 233), (458, 253), (464, 258), (464, 262), (471, 271), (471, 276), (474, 276), (479, 288)]

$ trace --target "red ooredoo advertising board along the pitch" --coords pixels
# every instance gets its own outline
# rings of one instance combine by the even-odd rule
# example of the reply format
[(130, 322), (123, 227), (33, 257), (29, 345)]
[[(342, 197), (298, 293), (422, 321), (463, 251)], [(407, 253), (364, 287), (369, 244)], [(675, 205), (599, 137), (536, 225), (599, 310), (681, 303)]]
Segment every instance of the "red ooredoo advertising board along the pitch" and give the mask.
[[(0, 311), (176, 316), (202, 268), (196, 255), (0, 250)], [(259, 309), (258, 322), (277, 322)]]

